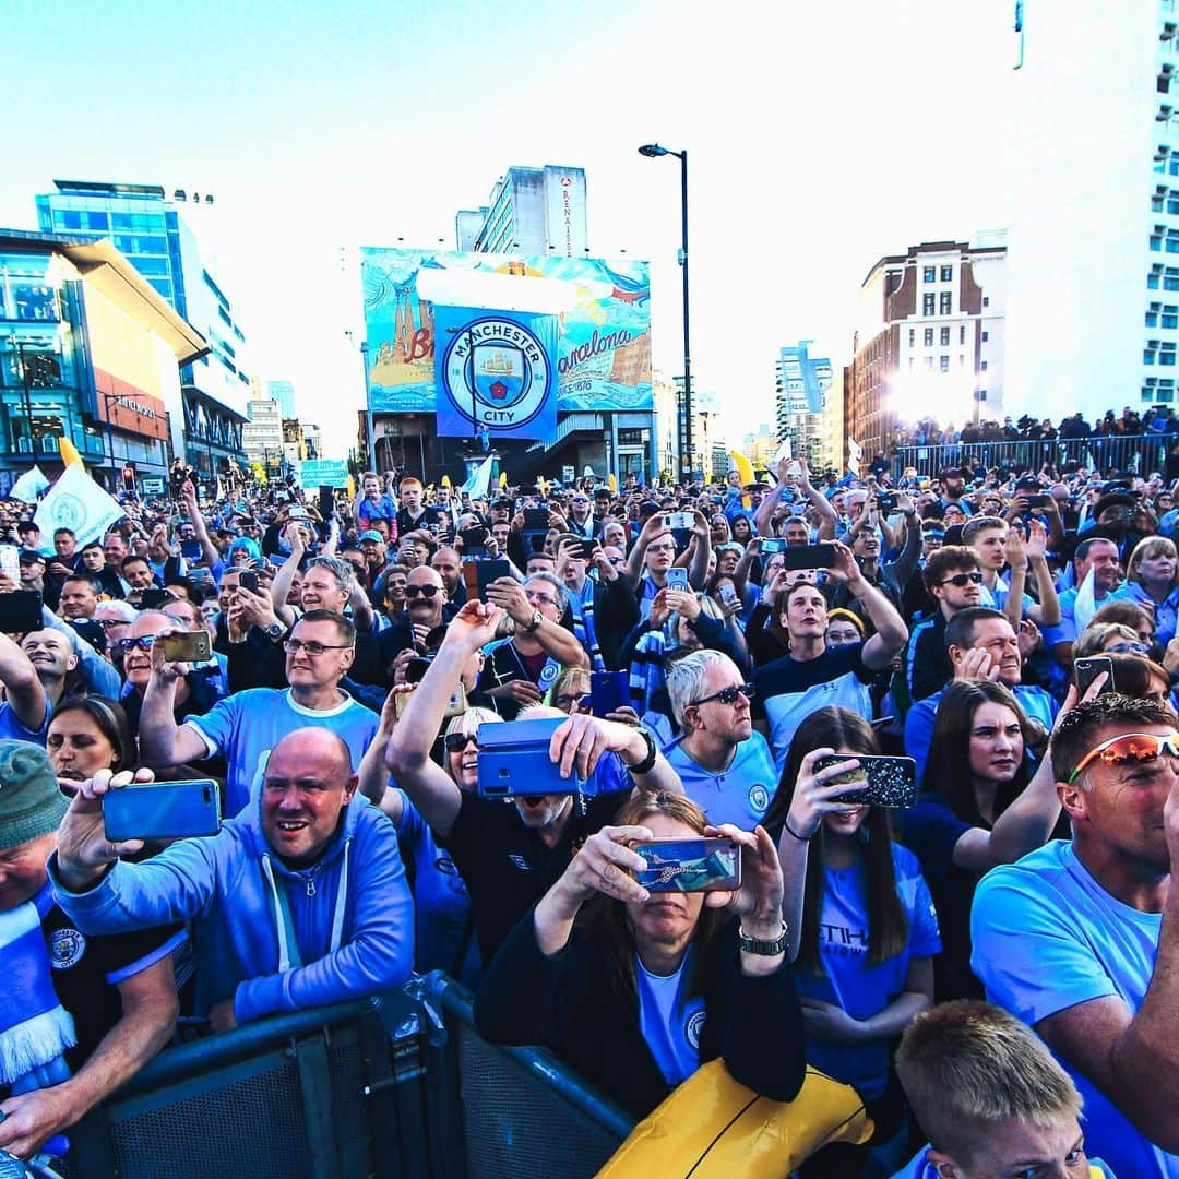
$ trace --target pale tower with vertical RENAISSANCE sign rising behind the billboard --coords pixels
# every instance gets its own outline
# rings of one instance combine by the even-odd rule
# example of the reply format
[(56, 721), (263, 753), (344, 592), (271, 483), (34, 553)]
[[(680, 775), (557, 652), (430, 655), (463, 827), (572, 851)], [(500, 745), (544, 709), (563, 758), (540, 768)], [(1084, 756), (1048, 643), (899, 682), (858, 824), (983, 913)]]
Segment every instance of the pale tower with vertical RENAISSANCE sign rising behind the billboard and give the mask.
[(513, 165), (486, 205), (459, 211), (455, 237), (477, 253), (587, 253), (585, 169)]

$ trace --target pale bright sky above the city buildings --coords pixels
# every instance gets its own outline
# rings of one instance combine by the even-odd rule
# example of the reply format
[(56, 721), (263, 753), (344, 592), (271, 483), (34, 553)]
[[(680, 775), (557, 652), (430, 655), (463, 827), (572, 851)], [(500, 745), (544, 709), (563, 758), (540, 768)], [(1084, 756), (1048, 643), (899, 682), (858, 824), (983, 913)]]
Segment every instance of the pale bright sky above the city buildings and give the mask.
[(652, 263), (657, 369), (681, 369), (690, 159), (693, 387), (737, 441), (773, 420), (777, 350), (851, 353), (883, 255), (1008, 217), (1014, 4), (696, 0), (156, 6), (0, 0), (0, 225), (53, 179), (212, 193), (210, 270), (264, 380), (328, 454), (355, 444), (358, 248), (454, 246), (508, 166), (587, 173), (590, 248)]

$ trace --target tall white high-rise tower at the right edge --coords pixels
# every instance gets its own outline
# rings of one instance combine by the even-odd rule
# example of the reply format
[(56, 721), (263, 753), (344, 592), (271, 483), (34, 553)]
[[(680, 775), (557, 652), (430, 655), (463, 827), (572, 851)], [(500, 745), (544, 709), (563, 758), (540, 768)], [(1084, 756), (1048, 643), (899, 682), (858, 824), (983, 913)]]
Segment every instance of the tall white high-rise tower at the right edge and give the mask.
[(1179, 5), (1025, 0), (1014, 119), (1008, 413), (1173, 404)]

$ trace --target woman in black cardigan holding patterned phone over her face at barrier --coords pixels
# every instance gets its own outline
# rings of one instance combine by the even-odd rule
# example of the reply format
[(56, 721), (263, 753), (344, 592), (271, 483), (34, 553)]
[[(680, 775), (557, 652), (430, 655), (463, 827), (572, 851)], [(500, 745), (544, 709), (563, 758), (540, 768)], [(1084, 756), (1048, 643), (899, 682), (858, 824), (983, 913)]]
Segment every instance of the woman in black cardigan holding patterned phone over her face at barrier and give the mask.
[(631, 844), (703, 836), (704, 812), (681, 795), (644, 792), (615, 822), (492, 960), (475, 999), (480, 1035), (547, 1045), (638, 1118), (717, 1056), (739, 1084), (790, 1101), (805, 1053), (773, 841), (762, 828), (709, 828), (740, 844), (740, 889), (647, 893)]

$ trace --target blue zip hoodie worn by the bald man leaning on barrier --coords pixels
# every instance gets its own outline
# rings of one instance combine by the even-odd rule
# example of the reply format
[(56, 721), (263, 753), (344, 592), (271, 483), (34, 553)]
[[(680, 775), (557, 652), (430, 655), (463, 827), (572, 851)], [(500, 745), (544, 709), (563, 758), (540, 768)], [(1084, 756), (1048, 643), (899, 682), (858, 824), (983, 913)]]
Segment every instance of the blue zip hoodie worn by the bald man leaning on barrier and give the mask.
[(360, 793), (323, 856), (302, 871), (272, 855), (257, 804), (217, 836), (180, 839), (143, 863), (118, 861), (87, 893), (61, 885), (55, 855), (50, 871), (58, 903), (84, 933), (190, 922), (198, 1015), (231, 996), (238, 1023), (361, 999), (400, 987), (414, 964), (414, 905), (397, 835)]

